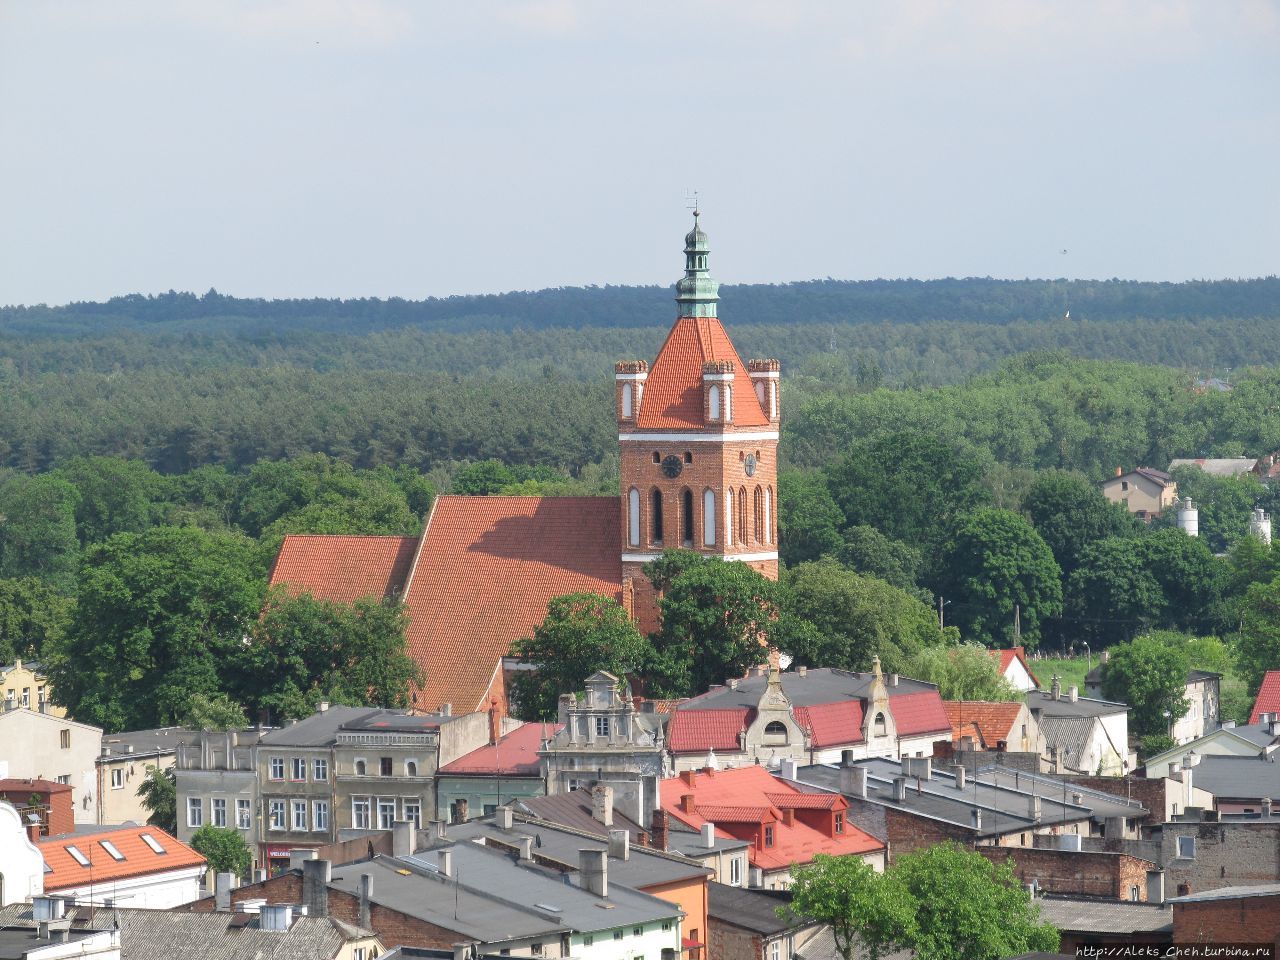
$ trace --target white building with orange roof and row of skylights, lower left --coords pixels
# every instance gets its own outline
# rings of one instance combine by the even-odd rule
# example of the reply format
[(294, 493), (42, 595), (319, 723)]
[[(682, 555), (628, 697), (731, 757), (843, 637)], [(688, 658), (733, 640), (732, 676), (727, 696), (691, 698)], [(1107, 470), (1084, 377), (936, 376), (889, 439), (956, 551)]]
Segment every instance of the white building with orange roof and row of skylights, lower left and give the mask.
[(64, 833), (38, 842), (44, 892), (81, 904), (165, 910), (201, 896), (205, 858), (159, 827)]

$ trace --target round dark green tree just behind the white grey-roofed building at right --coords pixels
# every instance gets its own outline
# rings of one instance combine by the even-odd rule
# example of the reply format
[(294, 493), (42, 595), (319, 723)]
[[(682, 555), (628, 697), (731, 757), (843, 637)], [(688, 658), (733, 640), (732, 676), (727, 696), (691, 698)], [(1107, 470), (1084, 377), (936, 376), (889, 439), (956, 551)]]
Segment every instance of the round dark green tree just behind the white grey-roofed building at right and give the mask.
[(1138, 636), (1111, 648), (1102, 667), (1102, 695), (1129, 704), (1137, 736), (1167, 736), (1170, 723), (1190, 705), (1187, 669), (1187, 650), (1180, 644), (1169, 643), (1167, 636)]

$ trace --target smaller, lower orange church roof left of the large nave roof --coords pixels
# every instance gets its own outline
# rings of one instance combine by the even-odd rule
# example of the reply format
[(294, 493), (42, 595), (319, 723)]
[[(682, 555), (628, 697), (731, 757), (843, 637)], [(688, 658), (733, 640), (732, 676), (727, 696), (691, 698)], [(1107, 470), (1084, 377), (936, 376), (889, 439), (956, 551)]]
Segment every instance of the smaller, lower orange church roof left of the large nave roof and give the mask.
[(389, 596), (404, 588), (416, 536), (308, 536), (291, 534), (271, 566), (271, 586), (335, 603)]

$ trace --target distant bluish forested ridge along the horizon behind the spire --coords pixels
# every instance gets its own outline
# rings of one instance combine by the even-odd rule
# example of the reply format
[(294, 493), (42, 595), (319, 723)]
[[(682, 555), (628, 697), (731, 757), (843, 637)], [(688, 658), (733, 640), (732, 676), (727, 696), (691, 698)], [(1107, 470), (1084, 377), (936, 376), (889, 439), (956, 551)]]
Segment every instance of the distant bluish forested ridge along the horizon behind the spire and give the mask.
[[(0, 308), (0, 333), (84, 335), (124, 330), (252, 334), (361, 333), (402, 326), (474, 329), (630, 328), (671, 315), (672, 288), (585, 287), (408, 301), (243, 300), (210, 291), (113, 297), (105, 303)], [(1076, 319), (1192, 320), (1280, 316), (1280, 278), (1147, 283), (1138, 280), (809, 280), (726, 284), (736, 325), (1012, 324)]]

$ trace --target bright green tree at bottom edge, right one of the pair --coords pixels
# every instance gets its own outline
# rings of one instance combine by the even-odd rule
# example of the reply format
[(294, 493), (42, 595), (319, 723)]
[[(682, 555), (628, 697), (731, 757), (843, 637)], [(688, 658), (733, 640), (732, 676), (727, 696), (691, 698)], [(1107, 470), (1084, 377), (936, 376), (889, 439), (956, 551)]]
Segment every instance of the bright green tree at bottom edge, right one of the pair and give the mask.
[(929, 960), (1001, 960), (1056, 952), (1059, 932), (1041, 919), (1009, 860), (947, 841), (897, 858), (890, 868), (915, 908), (908, 946)]

